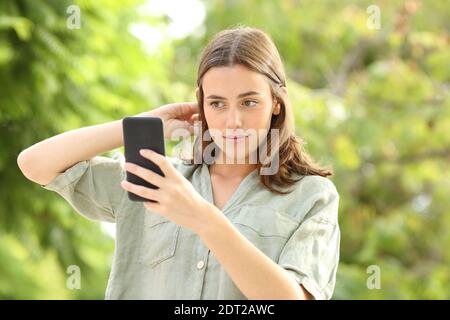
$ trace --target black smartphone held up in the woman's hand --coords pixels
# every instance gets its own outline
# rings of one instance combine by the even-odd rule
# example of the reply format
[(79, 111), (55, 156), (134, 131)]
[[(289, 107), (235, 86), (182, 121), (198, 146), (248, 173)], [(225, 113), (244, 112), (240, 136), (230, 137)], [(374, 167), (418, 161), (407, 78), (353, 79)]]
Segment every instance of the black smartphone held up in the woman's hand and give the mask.
[[(122, 128), (126, 162), (132, 162), (164, 176), (161, 169), (154, 162), (144, 158), (139, 153), (141, 149), (151, 149), (165, 156), (163, 120), (159, 117), (125, 117), (122, 119)], [(128, 171), (127, 181), (147, 188), (158, 189), (157, 186)], [(132, 192), (128, 192), (128, 198), (131, 201), (156, 202)]]

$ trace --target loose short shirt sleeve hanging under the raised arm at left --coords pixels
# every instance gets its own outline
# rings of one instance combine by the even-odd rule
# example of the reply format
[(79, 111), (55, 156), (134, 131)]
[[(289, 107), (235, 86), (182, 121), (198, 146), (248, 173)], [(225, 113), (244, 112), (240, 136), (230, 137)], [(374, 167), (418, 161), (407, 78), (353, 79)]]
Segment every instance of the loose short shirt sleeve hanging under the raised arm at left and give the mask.
[(116, 212), (126, 195), (120, 185), (126, 177), (122, 162), (118, 157), (96, 156), (76, 163), (41, 186), (60, 194), (88, 219), (115, 222)]

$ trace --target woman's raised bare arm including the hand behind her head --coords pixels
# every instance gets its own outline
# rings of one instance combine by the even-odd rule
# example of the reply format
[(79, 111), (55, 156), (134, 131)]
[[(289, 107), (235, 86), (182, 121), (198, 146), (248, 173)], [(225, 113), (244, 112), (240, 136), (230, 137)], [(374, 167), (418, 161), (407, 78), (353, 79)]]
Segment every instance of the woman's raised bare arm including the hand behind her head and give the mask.
[[(197, 117), (197, 103), (170, 103), (136, 117), (160, 117), (164, 121), (164, 133), (183, 128), (193, 133), (193, 121)], [(17, 164), (31, 181), (46, 185), (58, 174), (77, 162), (123, 145), (122, 119), (67, 131), (45, 139), (23, 150)]]

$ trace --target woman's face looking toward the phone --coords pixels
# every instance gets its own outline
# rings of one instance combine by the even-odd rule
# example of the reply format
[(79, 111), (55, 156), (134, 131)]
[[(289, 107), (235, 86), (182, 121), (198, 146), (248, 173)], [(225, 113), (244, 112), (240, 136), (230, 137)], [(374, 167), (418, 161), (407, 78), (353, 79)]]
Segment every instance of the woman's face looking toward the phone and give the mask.
[(268, 79), (242, 65), (215, 67), (205, 73), (202, 86), (206, 122), (223, 161), (256, 163), (256, 158), (248, 161), (249, 154), (256, 153), (272, 114), (280, 111)]

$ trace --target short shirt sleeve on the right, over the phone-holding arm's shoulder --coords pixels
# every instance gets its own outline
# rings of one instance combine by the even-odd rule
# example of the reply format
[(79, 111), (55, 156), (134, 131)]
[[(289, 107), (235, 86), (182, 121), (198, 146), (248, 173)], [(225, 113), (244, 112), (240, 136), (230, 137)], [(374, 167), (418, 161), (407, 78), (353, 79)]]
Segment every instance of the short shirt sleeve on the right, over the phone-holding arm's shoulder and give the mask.
[[(325, 180), (323, 180), (325, 181)], [(316, 299), (331, 299), (339, 264), (339, 194), (327, 179), (286, 242), (278, 264)]]

